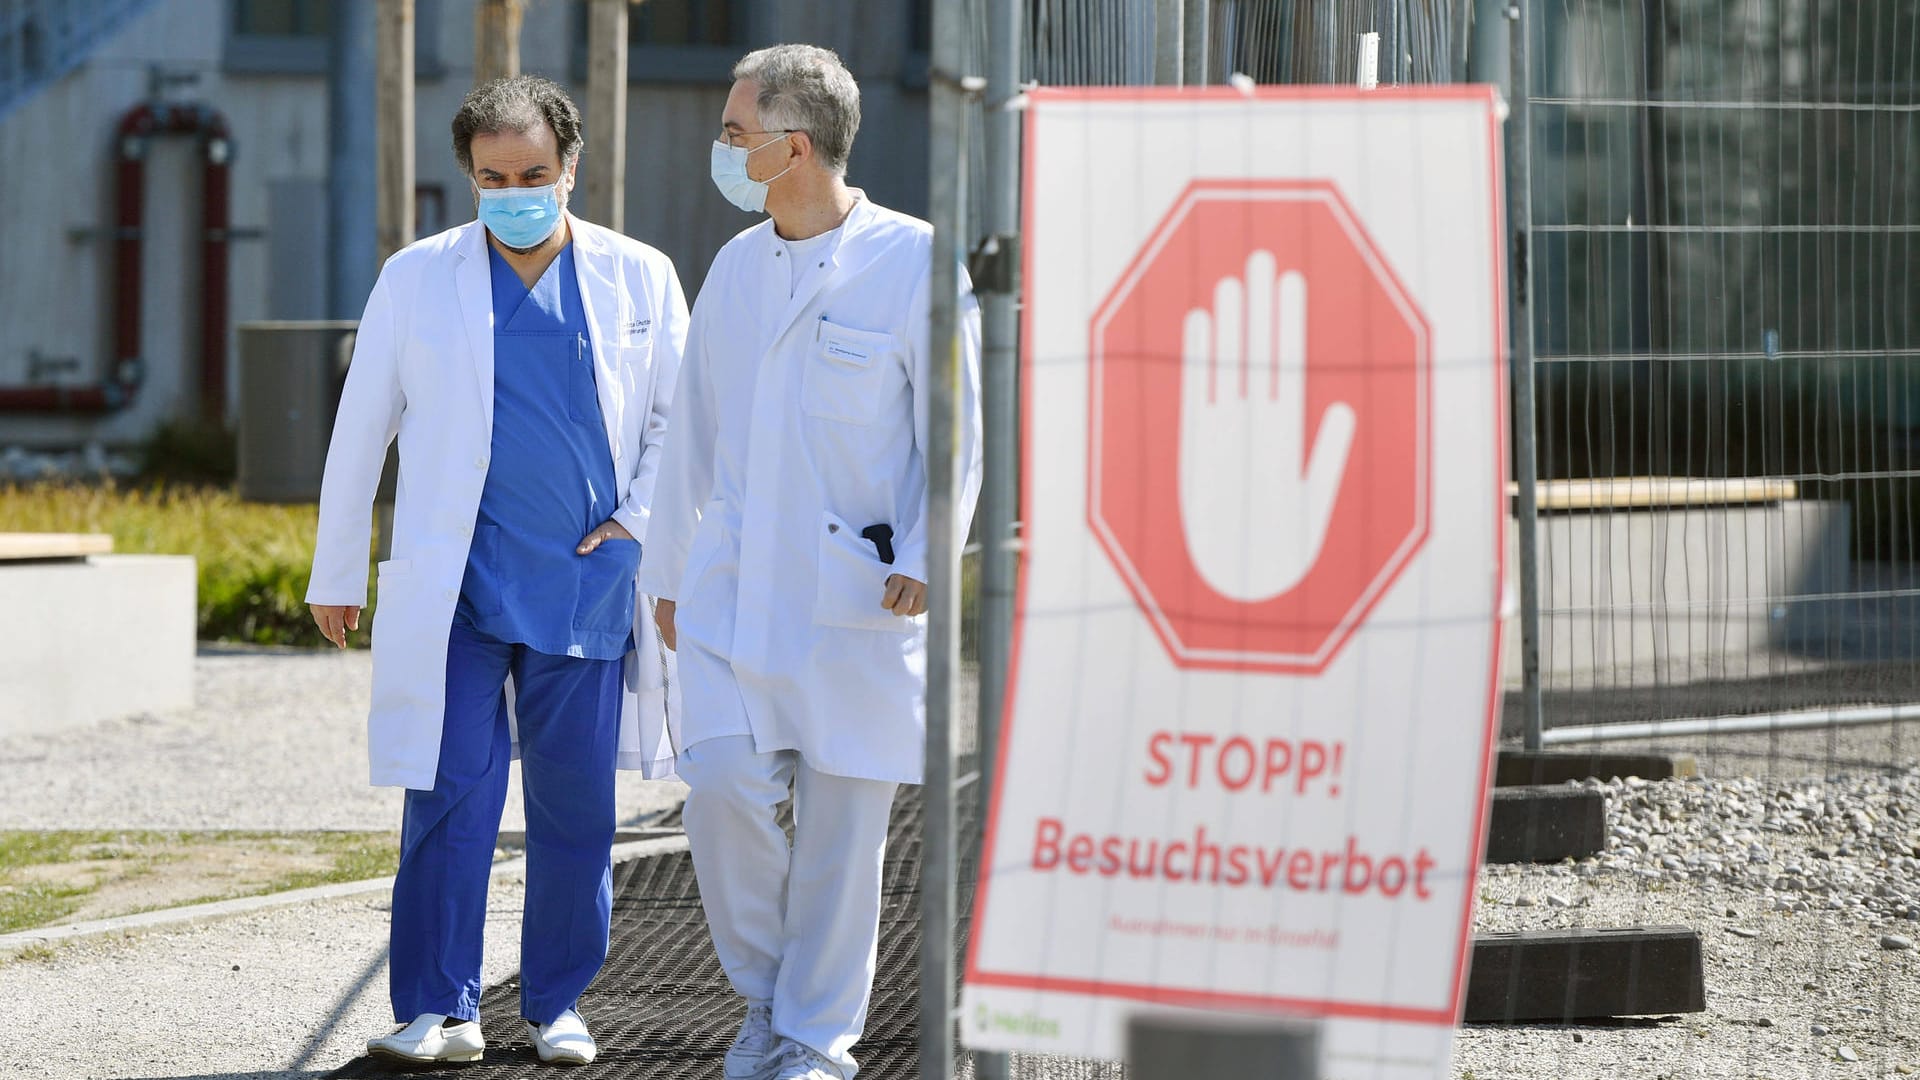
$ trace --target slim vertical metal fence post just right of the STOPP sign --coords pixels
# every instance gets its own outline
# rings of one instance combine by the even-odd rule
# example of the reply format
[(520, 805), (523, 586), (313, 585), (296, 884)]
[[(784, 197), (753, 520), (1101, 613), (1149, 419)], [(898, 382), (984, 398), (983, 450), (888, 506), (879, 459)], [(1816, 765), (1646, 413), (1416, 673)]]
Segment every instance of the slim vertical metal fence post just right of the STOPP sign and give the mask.
[(1528, 79), (1528, 23), (1526, 0), (1513, 0), (1507, 8), (1507, 44), (1511, 56), (1507, 100), (1507, 231), (1511, 236), (1507, 294), (1513, 334), (1513, 480), (1519, 486), (1515, 517), (1519, 519), (1519, 571), (1521, 571), (1521, 696), (1524, 701), (1524, 746), (1540, 749), (1540, 505), (1536, 486), (1540, 482), (1538, 452), (1534, 446), (1534, 309), (1532, 309), (1532, 127), (1528, 121), (1526, 96), (1532, 92)]

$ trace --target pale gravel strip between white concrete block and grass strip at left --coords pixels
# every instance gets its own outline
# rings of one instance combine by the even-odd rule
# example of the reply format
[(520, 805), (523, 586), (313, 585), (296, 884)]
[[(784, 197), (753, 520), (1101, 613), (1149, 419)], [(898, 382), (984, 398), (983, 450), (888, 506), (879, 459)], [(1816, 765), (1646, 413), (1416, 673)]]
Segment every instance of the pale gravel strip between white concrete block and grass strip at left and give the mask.
[[(399, 792), (367, 784), (371, 686), (365, 650), (207, 646), (188, 711), (0, 738), (0, 828), (399, 828)], [(622, 773), (620, 822), (682, 798)], [(518, 769), (501, 828), (526, 828)]]

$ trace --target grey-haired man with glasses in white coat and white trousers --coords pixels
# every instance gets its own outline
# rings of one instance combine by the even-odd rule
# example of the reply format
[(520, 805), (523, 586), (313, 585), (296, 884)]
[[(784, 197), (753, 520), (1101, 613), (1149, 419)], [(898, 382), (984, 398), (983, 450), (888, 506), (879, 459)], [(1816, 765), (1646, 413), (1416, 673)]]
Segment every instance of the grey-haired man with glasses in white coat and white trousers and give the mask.
[[(712, 177), (772, 221), (720, 250), (693, 307), (639, 578), (678, 644), (687, 840), (747, 999), (732, 1080), (854, 1074), (889, 807), (924, 761), (933, 231), (847, 186), (858, 125), (860, 90), (824, 48), (733, 69)], [(964, 530), (981, 475), (970, 296), (958, 356)]]

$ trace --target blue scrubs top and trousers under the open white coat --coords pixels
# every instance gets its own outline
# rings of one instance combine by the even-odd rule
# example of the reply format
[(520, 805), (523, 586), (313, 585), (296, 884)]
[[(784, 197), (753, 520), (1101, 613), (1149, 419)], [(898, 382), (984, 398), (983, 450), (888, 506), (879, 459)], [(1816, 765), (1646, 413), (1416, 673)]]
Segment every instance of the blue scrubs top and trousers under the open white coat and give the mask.
[[(476, 173), (488, 183), (493, 169)], [(586, 1024), (572, 1007), (607, 957), (620, 657), (632, 648), (639, 544), (609, 525), (595, 552), (574, 552), (618, 498), (564, 229), (563, 219), (543, 244), (563, 246), (532, 288), (526, 259), (515, 267), (499, 234), (488, 244), (493, 454), (447, 638), (440, 778), (432, 792), (407, 792), (392, 992), (396, 1019), (480, 1015), (486, 878), (513, 759), (501, 694), (511, 676), (526, 790), (520, 1013), (578, 1026), (580, 1043)]]

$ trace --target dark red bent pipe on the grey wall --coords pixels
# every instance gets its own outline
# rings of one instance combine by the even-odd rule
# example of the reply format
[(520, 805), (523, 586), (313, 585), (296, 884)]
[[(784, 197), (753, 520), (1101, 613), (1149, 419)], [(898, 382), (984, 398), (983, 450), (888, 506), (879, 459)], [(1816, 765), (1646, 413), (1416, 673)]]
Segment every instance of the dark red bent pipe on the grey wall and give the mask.
[(232, 136), (227, 119), (207, 106), (142, 104), (115, 127), (113, 221), (113, 369), (90, 386), (0, 386), (0, 413), (104, 415), (132, 404), (146, 380), (140, 356), (140, 256), (144, 248), (146, 152), (159, 135), (196, 135), (205, 158), (202, 173), (200, 248), (200, 407), (209, 419), (227, 415), (227, 277), (228, 181)]

